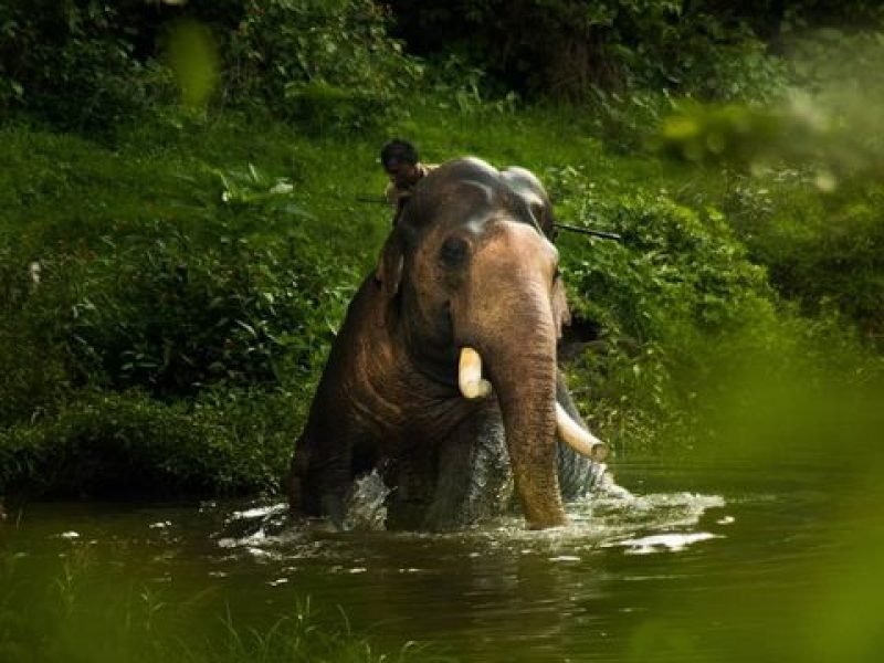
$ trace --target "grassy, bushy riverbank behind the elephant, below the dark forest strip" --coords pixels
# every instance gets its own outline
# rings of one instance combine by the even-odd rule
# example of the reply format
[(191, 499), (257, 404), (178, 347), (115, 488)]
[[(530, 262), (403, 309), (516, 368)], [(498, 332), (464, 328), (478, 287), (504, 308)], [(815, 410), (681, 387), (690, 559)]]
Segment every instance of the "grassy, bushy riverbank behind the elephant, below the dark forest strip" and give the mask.
[(358, 137), (181, 110), (113, 140), (6, 126), (0, 493), (275, 492), (389, 228), (359, 198), (393, 135), (530, 168), (562, 222), (623, 238), (558, 240), (570, 383), (621, 457), (729, 453), (722, 413), (759, 383), (880, 379), (874, 182), (623, 154), (565, 106), (415, 104)]

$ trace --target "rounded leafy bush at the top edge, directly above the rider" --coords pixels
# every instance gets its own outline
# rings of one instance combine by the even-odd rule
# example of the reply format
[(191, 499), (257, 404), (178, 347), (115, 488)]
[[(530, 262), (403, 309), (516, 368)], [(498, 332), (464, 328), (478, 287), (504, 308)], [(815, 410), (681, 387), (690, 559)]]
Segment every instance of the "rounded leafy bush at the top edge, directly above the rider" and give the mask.
[(421, 75), (370, 0), (245, 3), (228, 54), (234, 99), (264, 98), (314, 131), (361, 129)]

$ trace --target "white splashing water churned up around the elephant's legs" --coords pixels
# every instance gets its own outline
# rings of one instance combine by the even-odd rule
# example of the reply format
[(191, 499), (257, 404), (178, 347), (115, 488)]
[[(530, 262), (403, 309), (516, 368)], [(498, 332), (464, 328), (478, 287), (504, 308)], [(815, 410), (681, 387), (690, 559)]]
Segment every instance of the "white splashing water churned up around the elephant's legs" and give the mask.
[[(385, 550), (393, 539), (400, 546), (408, 543), (415, 548), (441, 545), (474, 549), (480, 545), (483, 555), (511, 550), (516, 557), (540, 554), (568, 561), (604, 549), (622, 548), (627, 555), (680, 551), (723, 537), (698, 529), (709, 509), (726, 506), (722, 496), (688, 492), (634, 494), (617, 484), (603, 464), (593, 473), (589, 488), (582, 499), (567, 505), (566, 527), (532, 532), (525, 528), (522, 516), (513, 513), (455, 533), (390, 533), (386, 530), (390, 488), (377, 472), (371, 472), (355, 483), (341, 528), (326, 519), (294, 519), (287, 505), (280, 503), (232, 512), (213, 538), (220, 548), (259, 561), (297, 559), (305, 564), (323, 559), (339, 564), (343, 572), (368, 568), (361, 554), (354, 559), (354, 546)], [(729, 524), (733, 517), (719, 514), (715, 520)]]

